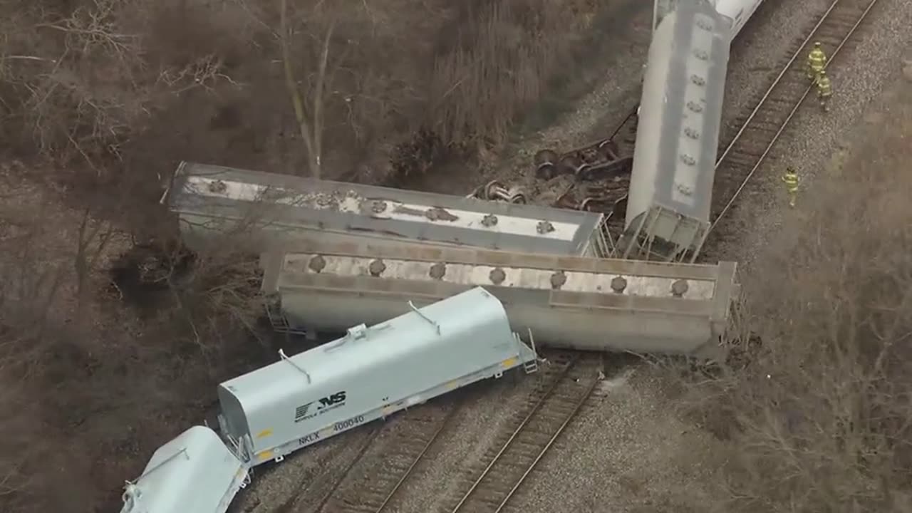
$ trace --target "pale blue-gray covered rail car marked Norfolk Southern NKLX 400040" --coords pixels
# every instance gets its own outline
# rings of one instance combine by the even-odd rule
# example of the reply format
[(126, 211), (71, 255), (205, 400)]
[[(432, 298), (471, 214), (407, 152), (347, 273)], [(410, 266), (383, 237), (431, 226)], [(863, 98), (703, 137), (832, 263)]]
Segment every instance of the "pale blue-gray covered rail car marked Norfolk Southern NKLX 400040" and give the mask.
[(219, 423), (245, 460), (281, 460), (471, 382), (520, 365), (534, 371), (534, 350), (483, 288), (418, 310), (405, 298), (398, 304), (395, 319), (358, 325), (344, 338), (219, 386)]

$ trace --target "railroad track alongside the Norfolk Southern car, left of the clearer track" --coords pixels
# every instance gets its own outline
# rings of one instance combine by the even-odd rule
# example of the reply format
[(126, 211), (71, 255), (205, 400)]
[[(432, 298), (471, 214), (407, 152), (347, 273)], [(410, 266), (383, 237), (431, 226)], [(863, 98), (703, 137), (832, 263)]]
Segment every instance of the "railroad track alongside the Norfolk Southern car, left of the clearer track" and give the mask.
[[(444, 428), (451, 424), (460, 410), (461, 401), (455, 405), (424, 405), (406, 413), (395, 426), (391, 440), (386, 444), (383, 459), (376, 466), (363, 469), (364, 479), (347, 483), (333, 490), (315, 509), (321, 513), (379, 513), (387, 508), (390, 500), (409, 478), (420, 460), (427, 454)], [(360, 462), (358, 462), (360, 463)], [(347, 480), (347, 475), (340, 480)]]

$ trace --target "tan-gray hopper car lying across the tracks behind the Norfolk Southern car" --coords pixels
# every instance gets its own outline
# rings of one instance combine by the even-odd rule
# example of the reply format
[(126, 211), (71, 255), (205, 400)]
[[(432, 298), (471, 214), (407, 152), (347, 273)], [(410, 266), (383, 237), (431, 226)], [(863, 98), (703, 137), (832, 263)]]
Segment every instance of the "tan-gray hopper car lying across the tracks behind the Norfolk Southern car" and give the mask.
[[(264, 292), (296, 327), (339, 330), (482, 286), (542, 346), (714, 358), (740, 287), (735, 264), (660, 264), (418, 244), (321, 244), (264, 256)], [(375, 276), (376, 275), (376, 276)], [(616, 292), (613, 286), (625, 288)], [(676, 285), (676, 283), (679, 283)], [(674, 288), (686, 290), (680, 297)], [(555, 286), (557, 288), (555, 288)]]

